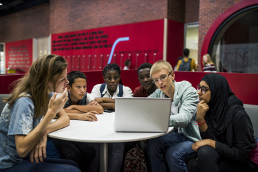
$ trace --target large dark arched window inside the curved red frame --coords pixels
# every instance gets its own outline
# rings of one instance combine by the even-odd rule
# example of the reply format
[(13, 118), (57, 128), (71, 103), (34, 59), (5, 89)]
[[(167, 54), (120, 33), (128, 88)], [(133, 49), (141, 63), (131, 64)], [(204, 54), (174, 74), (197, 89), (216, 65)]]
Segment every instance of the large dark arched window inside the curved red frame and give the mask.
[(258, 6), (233, 14), (215, 32), (208, 54), (217, 72), (258, 74)]

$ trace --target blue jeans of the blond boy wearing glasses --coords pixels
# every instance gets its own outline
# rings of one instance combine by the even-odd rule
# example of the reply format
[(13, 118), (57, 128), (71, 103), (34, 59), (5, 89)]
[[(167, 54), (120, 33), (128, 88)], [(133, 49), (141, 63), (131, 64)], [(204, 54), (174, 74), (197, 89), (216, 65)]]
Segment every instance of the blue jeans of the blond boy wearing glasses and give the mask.
[(151, 139), (147, 144), (151, 171), (166, 172), (166, 163), (170, 171), (187, 171), (184, 160), (197, 156), (197, 152), (191, 147), (192, 144), (184, 133), (178, 132)]

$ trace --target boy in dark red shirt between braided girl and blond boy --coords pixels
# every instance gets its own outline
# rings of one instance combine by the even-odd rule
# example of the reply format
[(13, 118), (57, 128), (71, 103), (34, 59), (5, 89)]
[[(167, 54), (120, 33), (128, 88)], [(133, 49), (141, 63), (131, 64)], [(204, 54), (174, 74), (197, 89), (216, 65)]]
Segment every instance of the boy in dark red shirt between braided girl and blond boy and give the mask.
[(134, 89), (133, 97), (147, 97), (153, 94), (157, 89), (157, 86), (152, 82), (153, 80), (149, 74), (151, 67), (151, 63), (142, 63), (142, 65), (138, 67), (137, 74), (140, 86)]

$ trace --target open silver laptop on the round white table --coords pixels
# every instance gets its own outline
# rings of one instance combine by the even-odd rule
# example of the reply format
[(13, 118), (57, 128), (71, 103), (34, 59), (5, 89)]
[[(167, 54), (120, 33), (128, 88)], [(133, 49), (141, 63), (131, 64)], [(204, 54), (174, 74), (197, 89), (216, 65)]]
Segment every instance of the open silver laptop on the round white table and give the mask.
[(116, 98), (115, 131), (168, 131), (171, 102), (171, 98)]

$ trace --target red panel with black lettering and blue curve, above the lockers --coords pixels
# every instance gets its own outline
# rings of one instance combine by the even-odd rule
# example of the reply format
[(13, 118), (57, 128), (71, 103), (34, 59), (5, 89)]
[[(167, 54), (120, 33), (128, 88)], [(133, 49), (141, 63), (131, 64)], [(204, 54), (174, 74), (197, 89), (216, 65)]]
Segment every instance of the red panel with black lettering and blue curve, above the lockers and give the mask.
[(163, 33), (164, 19), (58, 33), (52, 34), (51, 50), (64, 55), (110, 54), (113, 43), (128, 36), (129, 41), (116, 45), (114, 54), (162, 52)]

